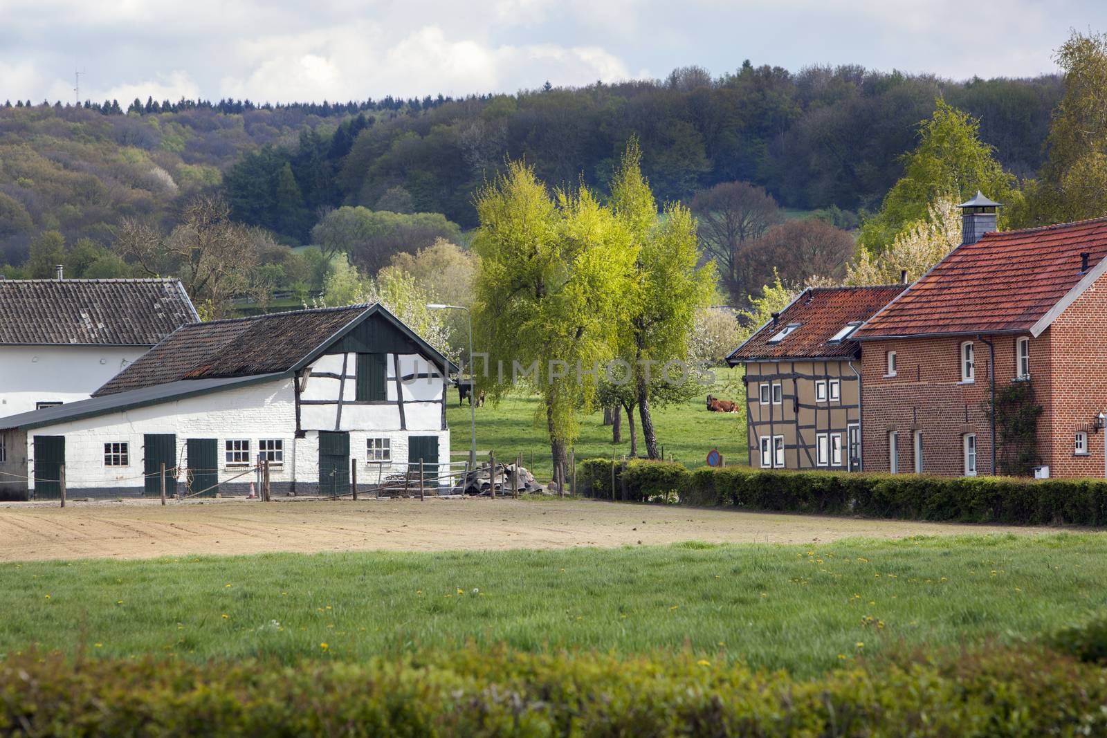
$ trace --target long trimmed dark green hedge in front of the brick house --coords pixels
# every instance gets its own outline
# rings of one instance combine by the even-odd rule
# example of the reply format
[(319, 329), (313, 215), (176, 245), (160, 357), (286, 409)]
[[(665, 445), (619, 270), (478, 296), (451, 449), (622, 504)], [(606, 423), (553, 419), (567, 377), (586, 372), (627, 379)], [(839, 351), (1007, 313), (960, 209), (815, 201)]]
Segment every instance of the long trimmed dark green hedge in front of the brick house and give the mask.
[(689, 471), (672, 461), (638, 459), (615, 464), (612, 495), (611, 459), (589, 459), (579, 466), (581, 492), (601, 499), (648, 501), (672, 490), (684, 505), (749, 510), (1021, 526), (1107, 524), (1104, 479), (766, 471), (751, 467)]

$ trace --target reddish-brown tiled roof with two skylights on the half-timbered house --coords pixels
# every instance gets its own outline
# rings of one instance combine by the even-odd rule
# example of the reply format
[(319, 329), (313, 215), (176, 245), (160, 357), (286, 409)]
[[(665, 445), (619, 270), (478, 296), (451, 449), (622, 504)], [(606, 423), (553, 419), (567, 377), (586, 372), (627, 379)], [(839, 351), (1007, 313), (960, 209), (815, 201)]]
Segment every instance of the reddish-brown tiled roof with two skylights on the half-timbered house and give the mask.
[[(903, 284), (884, 287), (829, 287), (805, 290), (779, 315), (763, 325), (738, 346), (727, 361), (736, 364), (753, 358), (849, 357), (858, 345), (847, 337), (831, 341), (849, 323), (866, 321), (904, 290)], [(798, 328), (778, 343), (770, 340), (785, 326)]]

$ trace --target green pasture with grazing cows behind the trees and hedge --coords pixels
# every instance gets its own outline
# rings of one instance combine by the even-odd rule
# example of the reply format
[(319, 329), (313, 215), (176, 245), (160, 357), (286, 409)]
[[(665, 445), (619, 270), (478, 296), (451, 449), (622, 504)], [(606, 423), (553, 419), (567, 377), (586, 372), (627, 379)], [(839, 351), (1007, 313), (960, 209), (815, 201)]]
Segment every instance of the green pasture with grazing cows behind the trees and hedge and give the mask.
[[(727, 464), (746, 462), (746, 416), (745, 413), (711, 413), (706, 408), (707, 394), (725, 399), (743, 398), (742, 370), (716, 368), (714, 386), (679, 405), (653, 409), (653, 425), (658, 433), (659, 446), (664, 446), (665, 458), (670, 455), (689, 467), (706, 464), (707, 451), (717, 448)], [(541, 417), (541, 425), (536, 418)], [(446, 408), (449, 423), (449, 443), (454, 451), (469, 449), (469, 406), (458, 406), (457, 392), (449, 393)], [(581, 419), (580, 438), (576, 443), (578, 459), (594, 457), (610, 458), (612, 451), (619, 456), (630, 453), (630, 429), (623, 416), (622, 443), (611, 443), (611, 426), (603, 425), (603, 414), (593, 413)], [(639, 424), (639, 455), (645, 456)], [(514, 459), (523, 454), (523, 465), (541, 481), (550, 478), (554, 470), (550, 446), (546, 435), (546, 416), (538, 397), (511, 396), (498, 406), (490, 402), (477, 408), (477, 450), (495, 451), (496, 458)], [(455, 460), (464, 460), (455, 456)]]

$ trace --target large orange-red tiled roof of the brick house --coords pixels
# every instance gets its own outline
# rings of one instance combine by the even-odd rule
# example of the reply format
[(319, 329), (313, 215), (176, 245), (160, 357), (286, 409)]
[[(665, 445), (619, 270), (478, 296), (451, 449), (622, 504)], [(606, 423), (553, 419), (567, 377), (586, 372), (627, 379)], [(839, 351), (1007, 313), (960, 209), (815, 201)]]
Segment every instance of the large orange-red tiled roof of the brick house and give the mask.
[(1107, 218), (985, 233), (958, 247), (856, 337), (1030, 332), (1107, 258)]

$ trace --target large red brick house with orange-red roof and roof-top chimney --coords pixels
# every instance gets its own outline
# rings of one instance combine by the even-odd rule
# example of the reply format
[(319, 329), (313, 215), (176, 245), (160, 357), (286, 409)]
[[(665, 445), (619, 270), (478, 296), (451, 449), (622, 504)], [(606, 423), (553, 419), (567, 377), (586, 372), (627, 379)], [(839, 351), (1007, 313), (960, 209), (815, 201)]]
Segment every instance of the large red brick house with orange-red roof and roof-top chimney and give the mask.
[(961, 207), (964, 242), (853, 334), (866, 469), (1003, 472), (992, 399), (1025, 382), (1039, 474), (1104, 476), (1107, 218), (996, 232), (997, 204)]

